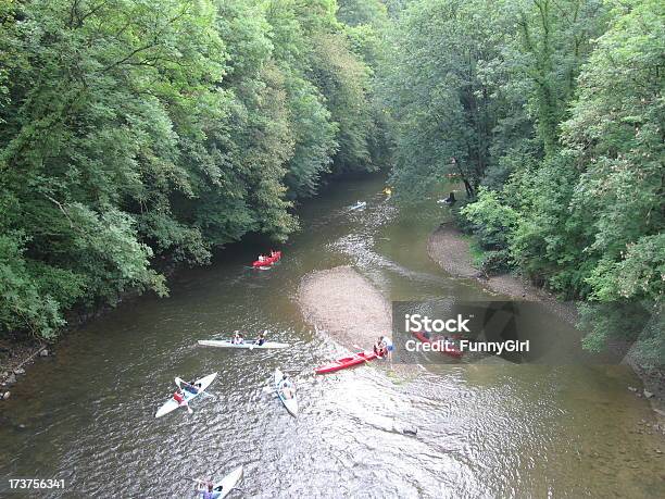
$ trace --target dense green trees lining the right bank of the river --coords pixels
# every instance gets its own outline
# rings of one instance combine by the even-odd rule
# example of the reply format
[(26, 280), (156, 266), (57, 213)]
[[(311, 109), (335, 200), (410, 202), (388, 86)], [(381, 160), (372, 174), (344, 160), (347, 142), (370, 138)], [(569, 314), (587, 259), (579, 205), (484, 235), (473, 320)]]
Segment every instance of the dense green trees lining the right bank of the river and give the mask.
[(419, 0), (391, 43), (398, 191), (461, 175), (497, 269), (585, 300), (588, 348), (641, 333), (662, 363), (665, 4)]

